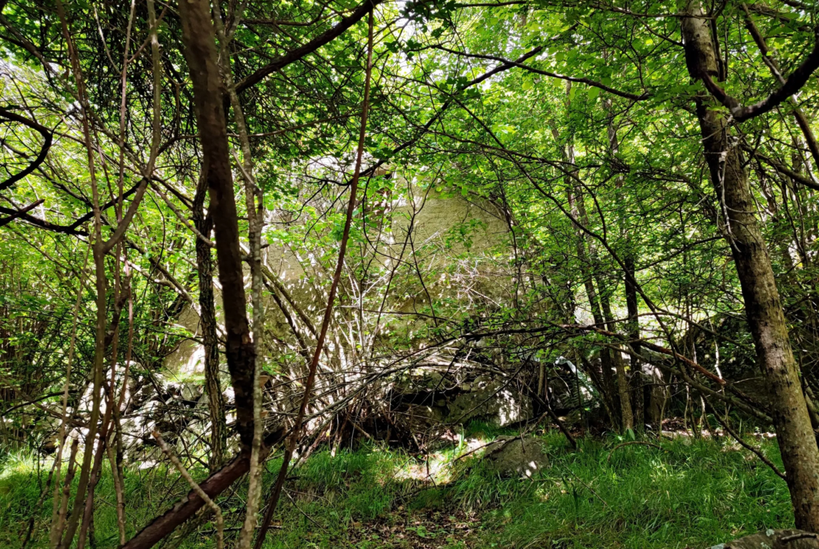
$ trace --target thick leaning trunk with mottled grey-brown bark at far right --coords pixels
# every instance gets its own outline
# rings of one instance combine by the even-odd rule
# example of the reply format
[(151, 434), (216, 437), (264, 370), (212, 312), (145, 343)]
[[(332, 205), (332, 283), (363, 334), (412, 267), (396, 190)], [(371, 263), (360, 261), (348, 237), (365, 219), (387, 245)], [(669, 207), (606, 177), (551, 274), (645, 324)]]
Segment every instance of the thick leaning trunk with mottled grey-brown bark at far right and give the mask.
[[(686, 65), (692, 79), (717, 74), (713, 43), (699, 2), (689, 2), (682, 20)], [(797, 528), (819, 531), (819, 449), (790, 348), (785, 314), (771, 259), (754, 216), (754, 200), (740, 151), (732, 145), (727, 120), (711, 97), (697, 97), (705, 160), (722, 202), (722, 232), (731, 245), (742, 286), (745, 314), (757, 360), (771, 395), (771, 416), (785, 464)]]

